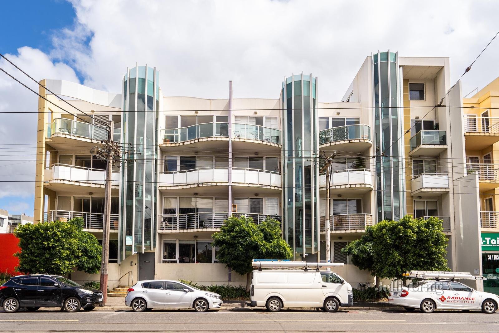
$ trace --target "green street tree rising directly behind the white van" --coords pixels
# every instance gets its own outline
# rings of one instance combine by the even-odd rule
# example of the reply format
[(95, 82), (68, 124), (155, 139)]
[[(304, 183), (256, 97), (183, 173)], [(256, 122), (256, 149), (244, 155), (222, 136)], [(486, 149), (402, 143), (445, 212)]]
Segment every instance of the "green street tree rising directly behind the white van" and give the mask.
[(246, 274), (247, 288), (253, 259), (290, 259), (293, 254), (281, 237), (279, 222), (269, 217), (255, 224), (250, 217), (232, 215), (213, 239), (213, 246), (219, 248), (217, 259), (231, 270)]

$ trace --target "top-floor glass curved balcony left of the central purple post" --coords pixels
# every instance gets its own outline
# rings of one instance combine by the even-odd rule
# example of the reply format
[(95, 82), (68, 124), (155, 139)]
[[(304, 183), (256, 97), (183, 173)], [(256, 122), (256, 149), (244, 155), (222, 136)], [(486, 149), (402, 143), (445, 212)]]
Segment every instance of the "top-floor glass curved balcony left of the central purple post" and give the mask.
[[(193, 148), (225, 148), (228, 149), (229, 124), (204, 123), (187, 127), (162, 129), (159, 133), (159, 145), (171, 151), (172, 147), (190, 145)], [(168, 147), (168, 148), (167, 148)]]

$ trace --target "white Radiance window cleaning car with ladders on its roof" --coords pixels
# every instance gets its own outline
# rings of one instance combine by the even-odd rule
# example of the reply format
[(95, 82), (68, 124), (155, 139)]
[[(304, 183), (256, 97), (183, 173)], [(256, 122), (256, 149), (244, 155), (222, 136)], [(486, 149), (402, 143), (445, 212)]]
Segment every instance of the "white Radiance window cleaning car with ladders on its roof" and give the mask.
[(424, 313), (435, 310), (482, 310), (493, 314), (498, 309), (499, 296), (477, 292), (455, 280), (483, 280), (462, 272), (409, 271), (408, 278), (423, 279), (407, 287), (392, 289), (388, 303), (404, 307), (407, 311), (420, 309)]

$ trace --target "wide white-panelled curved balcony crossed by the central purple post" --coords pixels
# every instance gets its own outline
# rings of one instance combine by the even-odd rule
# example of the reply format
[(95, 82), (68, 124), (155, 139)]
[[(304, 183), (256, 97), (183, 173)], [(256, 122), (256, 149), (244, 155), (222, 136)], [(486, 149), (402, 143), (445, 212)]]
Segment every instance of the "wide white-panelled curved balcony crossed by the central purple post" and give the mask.
[[(161, 189), (191, 188), (199, 186), (227, 186), (229, 168), (198, 168), (159, 174)], [(278, 173), (247, 168), (232, 168), (232, 184), (235, 186), (258, 186), (280, 189), (281, 175)]]

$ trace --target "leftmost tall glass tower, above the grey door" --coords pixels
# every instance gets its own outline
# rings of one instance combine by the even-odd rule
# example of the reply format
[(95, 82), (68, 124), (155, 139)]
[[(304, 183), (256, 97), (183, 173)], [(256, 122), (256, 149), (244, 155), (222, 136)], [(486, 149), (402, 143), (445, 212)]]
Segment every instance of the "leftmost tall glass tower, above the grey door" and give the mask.
[(136, 66), (122, 81), (123, 156), (120, 186), (120, 260), (156, 246), (157, 111), (159, 71)]

